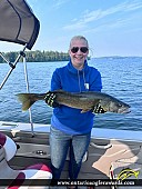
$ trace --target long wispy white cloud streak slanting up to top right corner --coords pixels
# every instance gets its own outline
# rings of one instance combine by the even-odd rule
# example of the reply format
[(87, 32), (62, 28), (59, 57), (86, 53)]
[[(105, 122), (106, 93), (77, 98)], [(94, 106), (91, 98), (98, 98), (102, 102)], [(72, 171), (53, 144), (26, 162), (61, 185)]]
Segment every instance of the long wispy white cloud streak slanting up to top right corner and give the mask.
[(85, 10), (82, 16), (79, 19), (73, 19), (71, 21), (71, 24), (67, 24), (63, 27), (64, 30), (78, 30), (78, 29), (84, 29), (87, 28), (88, 23), (98, 21), (100, 19), (103, 19), (108, 16), (112, 16), (115, 13), (122, 13), (122, 12), (131, 12), (134, 10), (138, 10), (142, 8), (141, 1), (125, 1), (123, 3), (120, 3), (115, 7), (111, 7), (109, 9), (102, 10), (98, 9), (94, 11)]

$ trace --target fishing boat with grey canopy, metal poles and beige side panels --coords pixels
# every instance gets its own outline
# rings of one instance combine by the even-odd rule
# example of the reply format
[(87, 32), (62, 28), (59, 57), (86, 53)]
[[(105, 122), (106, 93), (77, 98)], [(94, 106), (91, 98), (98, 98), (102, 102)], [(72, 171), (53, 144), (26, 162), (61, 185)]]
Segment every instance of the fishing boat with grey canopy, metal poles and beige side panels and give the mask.
[[(9, 30), (9, 28), (12, 29)], [(0, 40), (23, 46), (22, 51), (20, 51), (13, 63), (0, 52), (0, 56), (10, 66), (10, 71), (3, 79), (0, 90), (2, 90), (21, 57), (23, 57), (23, 62), (26, 63), (24, 51), (26, 49), (32, 49), (38, 38), (39, 29), (40, 22), (27, 1), (0, 1)], [(28, 79), (28, 77), (26, 78)], [(27, 90), (29, 91), (28, 80)], [(17, 152), (7, 165), (11, 169), (20, 170), (33, 163), (43, 163), (50, 167), (50, 125), (33, 123), (31, 119), (29, 123), (0, 121), (0, 132), (8, 136), (17, 145)], [(67, 188), (68, 185), (77, 185), (79, 189), (85, 189), (87, 186), (100, 189), (141, 188), (141, 132), (93, 128), (91, 142), (83, 157), (79, 179), (73, 182), (68, 179), (68, 161), (69, 156), (67, 157), (61, 180), (58, 183), (62, 189)], [(0, 171), (2, 172), (4, 169), (2, 170), (1, 168)], [(0, 175), (0, 181), (2, 182), (2, 173)]]

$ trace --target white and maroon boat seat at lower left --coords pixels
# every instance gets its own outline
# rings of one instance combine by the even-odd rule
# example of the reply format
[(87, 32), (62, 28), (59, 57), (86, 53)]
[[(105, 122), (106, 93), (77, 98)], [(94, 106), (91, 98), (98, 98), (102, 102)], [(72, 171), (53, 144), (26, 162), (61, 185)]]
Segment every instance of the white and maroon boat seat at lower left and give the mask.
[[(10, 137), (0, 132), (0, 183), (2, 183), (4, 179), (8, 183), (8, 186), (3, 186), (3, 188), (49, 188), (48, 186), (36, 187), (33, 186), (33, 183), (36, 183), (33, 181), (40, 181), (39, 179), (43, 179), (43, 181), (50, 183), (50, 180), (52, 179), (51, 169), (47, 165), (37, 163), (22, 170), (14, 170), (9, 166), (9, 160), (14, 157), (16, 152), (16, 142)], [(43, 185), (43, 182), (41, 185)], [(0, 186), (0, 188), (2, 189), (2, 186)]]

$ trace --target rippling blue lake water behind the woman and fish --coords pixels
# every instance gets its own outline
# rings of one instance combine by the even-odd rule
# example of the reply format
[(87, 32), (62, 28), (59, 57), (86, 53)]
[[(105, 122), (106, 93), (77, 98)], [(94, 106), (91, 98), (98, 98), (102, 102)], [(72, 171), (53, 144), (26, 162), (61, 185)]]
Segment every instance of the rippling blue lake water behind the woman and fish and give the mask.
[[(52, 72), (68, 62), (28, 62), (30, 92), (43, 93), (50, 89)], [(131, 106), (126, 115), (97, 115), (94, 127), (124, 130), (142, 130), (142, 58), (97, 58), (89, 61), (102, 76), (103, 92), (123, 100)], [(7, 63), (0, 63), (0, 83), (9, 71)], [(0, 120), (29, 122), (29, 111), (21, 111), (16, 94), (27, 92), (24, 67), (19, 62), (0, 90)], [(32, 108), (32, 121), (50, 123), (52, 108), (43, 101)]]

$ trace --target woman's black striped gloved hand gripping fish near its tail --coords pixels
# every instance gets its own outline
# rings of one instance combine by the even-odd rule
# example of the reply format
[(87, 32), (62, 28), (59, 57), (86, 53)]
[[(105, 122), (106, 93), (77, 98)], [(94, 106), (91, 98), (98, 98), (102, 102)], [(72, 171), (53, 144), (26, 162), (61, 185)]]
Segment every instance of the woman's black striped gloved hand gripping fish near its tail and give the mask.
[(48, 94), (45, 96), (44, 100), (45, 103), (48, 103), (48, 106), (55, 108), (59, 107), (60, 105), (55, 101), (57, 96), (52, 92), (48, 92)]

